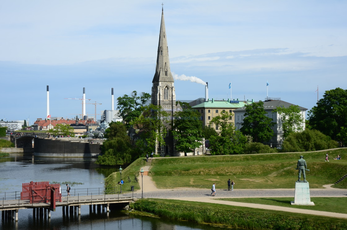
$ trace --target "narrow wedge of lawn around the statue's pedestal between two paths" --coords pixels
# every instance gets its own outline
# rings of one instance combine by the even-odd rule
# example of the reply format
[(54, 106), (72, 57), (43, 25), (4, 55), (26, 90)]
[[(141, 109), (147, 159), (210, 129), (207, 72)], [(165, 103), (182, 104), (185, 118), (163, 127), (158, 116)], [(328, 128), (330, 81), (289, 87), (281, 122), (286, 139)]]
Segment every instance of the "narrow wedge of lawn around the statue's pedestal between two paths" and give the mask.
[(301, 208), (324, 212), (337, 212), (347, 214), (347, 197), (311, 197), (314, 206), (291, 205), (294, 201), (293, 197), (278, 197), (278, 198), (221, 198), (217, 200), (227, 200), (234, 202), (265, 204), (290, 208)]

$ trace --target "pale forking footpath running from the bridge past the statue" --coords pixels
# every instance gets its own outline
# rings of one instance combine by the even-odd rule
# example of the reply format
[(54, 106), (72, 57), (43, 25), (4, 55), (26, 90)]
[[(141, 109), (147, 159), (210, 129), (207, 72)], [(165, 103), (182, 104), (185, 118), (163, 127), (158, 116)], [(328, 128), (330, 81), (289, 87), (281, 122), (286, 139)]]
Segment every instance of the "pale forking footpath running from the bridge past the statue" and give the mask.
[[(142, 167), (143, 171), (149, 172), (151, 167), (151, 162)], [(141, 170), (141, 169), (140, 169)], [(293, 197), (294, 200), (294, 189), (237, 189), (234, 187), (234, 191), (227, 191), (227, 189), (216, 188), (216, 196), (212, 197), (210, 195), (211, 190), (207, 189), (195, 189), (195, 188), (177, 188), (177, 189), (158, 189), (155, 183), (152, 181), (151, 176), (143, 176), (143, 188), (142, 188), (142, 177), (139, 177), (140, 189), (143, 189), (144, 198), (161, 198), (161, 199), (177, 199), (177, 200), (187, 200), (194, 202), (206, 202), (215, 204), (225, 204), (232, 206), (242, 206), (250, 208), (262, 208), (267, 210), (276, 210), (292, 213), (306, 213), (312, 215), (320, 216), (330, 216), (337, 218), (347, 219), (347, 214), (343, 213), (333, 213), (324, 211), (314, 211), (307, 209), (299, 209), (293, 207), (281, 207), (274, 205), (263, 205), (263, 204), (253, 204), (253, 203), (241, 203), (232, 202), (225, 200), (215, 200), (216, 198), (255, 198), (255, 197)], [(212, 185), (211, 185), (212, 186)], [(347, 197), (346, 189), (336, 189), (331, 188), (331, 185), (324, 186), (326, 189), (310, 189), (311, 197)], [(140, 196), (141, 197), (141, 196)]]

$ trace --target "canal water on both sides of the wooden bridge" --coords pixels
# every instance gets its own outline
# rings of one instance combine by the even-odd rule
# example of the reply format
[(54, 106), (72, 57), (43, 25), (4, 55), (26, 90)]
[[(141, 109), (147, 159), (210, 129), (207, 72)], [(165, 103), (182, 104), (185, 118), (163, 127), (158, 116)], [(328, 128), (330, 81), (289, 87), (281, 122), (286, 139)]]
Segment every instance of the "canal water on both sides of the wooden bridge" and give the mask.
[[(0, 193), (22, 191), (22, 183), (30, 181), (71, 181), (74, 188), (98, 188), (104, 186), (104, 179), (116, 169), (99, 167), (95, 158), (51, 158), (34, 157), (31, 154), (15, 154), (0, 158)], [(65, 186), (62, 186), (63, 196)], [(102, 212), (90, 212), (88, 205), (81, 206), (81, 215), (63, 214), (57, 207), (51, 212), (50, 219), (33, 217), (32, 210), (19, 210), (18, 222), (1, 220), (0, 230), (13, 229), (53, 229), (53, 230), (212, 230), (217, 227), (199, 225), (187, 221), (163, 220), (147, 216), (121, 213), (110, 210), (109, 215)], [(217, 228), (226, 229), (226, 228)], [(230, 230), (230, 228), (228, 228)]]

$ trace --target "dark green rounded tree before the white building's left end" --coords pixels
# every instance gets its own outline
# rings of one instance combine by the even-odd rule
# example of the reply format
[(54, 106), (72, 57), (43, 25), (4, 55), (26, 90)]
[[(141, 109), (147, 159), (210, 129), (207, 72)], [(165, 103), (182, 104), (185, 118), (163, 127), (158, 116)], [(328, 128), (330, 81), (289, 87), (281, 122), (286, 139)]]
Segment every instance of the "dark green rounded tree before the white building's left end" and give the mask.
[(245, 118), (240, 131), (244, 135), (251, 135), (254, 142), (266, 142), (273, 136), (274, 122), (265, 116), (264, 103), (259, 101), (246, 106)]

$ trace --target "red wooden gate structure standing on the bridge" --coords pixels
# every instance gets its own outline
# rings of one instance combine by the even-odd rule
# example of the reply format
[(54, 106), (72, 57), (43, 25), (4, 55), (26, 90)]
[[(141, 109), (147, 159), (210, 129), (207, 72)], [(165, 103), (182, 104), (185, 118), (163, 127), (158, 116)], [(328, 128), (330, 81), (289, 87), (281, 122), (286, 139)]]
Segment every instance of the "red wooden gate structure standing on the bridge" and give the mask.
[[(23, 183), (21, 200), (29, 200), (32, 203), (61, 202), (60, 184), (50, 184), (49, 181)], [(51, 196), (51, 194), (53, 196)], [(51, 202), (52, 203), (52, 202)], [(52, 206), (52, 204), (51, 204)], [(55, 208), (55, 207), (54, 207)]]

